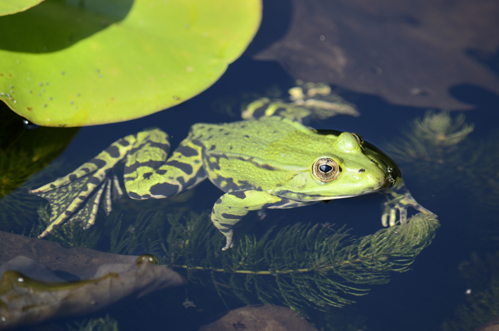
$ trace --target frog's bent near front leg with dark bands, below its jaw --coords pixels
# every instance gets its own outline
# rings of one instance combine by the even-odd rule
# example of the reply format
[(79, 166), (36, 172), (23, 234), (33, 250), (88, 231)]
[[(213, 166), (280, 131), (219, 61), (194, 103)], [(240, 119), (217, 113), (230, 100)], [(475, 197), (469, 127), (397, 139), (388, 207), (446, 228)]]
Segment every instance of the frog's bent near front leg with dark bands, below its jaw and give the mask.
[(227, 243), (222, 250), (234, 246), (232, 243), (233, 227), (248, 212), (271, 207), (281, 200), (283, 198), (256, 190), (229, 192), (220, 197), (213, 206), (212, 222), (227, 238)]

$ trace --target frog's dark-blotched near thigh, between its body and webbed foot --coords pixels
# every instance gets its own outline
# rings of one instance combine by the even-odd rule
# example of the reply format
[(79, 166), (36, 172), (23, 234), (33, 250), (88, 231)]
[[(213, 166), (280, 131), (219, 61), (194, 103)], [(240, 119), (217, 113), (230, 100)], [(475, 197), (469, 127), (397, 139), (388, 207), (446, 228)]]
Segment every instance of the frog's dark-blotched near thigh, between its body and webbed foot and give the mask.
[(124, 176), (128, 195), (133, 199), (172, 197), (198, 185), (206, 178), (202, 147), (189, 139), (182, 141), (166, 162), (166, 155), (155, 149), (155, 146), (144, 146), (138, 152), (146, 157), (140, 160), (140, 164), (139, 160), (132, 163), (130, 171), (127, 171), (127, 162)]

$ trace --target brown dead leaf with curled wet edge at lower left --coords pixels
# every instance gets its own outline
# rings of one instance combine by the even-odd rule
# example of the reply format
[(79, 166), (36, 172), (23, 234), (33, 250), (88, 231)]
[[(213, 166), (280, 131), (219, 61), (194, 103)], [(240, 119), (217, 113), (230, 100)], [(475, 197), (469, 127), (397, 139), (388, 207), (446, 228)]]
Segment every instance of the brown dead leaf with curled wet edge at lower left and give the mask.
[[(3, 231), (0, 242), (0, 261), (4, 262), (0, 267), (0, 330), (53, 317), (88, 314), (132, 294), (141, 297), (185, 284), (180, 274), (156, 265), (150, 255), (66, 249), (53, 242)], [(12, 255), (17, 256), (5, 261)], [(67, 274), (81, 280), (62, 280)]]

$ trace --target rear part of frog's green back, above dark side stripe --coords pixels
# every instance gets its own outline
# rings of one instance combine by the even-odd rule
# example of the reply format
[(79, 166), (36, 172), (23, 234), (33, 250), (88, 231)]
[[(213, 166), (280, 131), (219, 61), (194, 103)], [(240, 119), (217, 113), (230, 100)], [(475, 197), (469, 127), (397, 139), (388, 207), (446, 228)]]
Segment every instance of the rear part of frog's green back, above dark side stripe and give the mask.
[(191, 139), (201, 142), (207, 151), (262, 157), (270, 143), (296, 130), (310, 132), (298, 122), (270, 116), (232, 123), (196, 123), (191, 128)]

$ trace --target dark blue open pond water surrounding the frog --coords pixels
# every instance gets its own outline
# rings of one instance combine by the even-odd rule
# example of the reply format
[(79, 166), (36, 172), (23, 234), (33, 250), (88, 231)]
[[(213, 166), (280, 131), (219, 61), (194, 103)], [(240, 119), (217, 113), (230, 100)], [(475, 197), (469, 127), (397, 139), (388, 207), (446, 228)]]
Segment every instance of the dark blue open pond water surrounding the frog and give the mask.
[[(189, 127), (194, 123), (240, 120), (240, 105), (265, 96), (269, 91), (280, 91), (282, 98), (286, 97), (288, 89), (295, 86), (294, 79), (276, 62), (252, 59), (252, 55), (284, 35), (291, 12), (279, 11), (279, 5), (267, 7), (262, 28), (253, 44), (240, 59), (229, 66), (223, 77), (205, 92), (174, 108), (136, 120), (82, 127), (55, 161), (0, 200), (0, 213), (3, 215), (0, 230), (31, 236), (39, 234), (36, 231), (43, 227), (40, 225), (40, 215), (47, 212), (44, 209), (46, 201), (30, 196), (26, 192), (27, 189), (66, 175), (121, 137), (137, 133), (144, 128), (159, 127), (168, 132), (172, 147), (175, 148), (187, 136)], [(488, 62), (489, 70), (495, 75), (499, 75), (497, 61), (496, 56)], [(373, 95), (334, 86), (333, 91), (355, 105), (361, 115), (337, 115), (324, 120), (310, 119), (306, 124), (317, 129), (358, 132), (367, 141), (388, 151), (388, 154), (391, 154), (390, 144), (397, 144), (400, 139), (410, 140), (401, 130), (410, 132), (409, 135), (412, 134), (414, 138), (411, 123), (417, 118), (422, 119), (427, 113), (427, 108), (397, 106)], [(464, 115), (466, 123), (475, 125), (473, 132), (463, 136), (461, 141), (449, 142), (448, 145), (439, 145), (440, 147), (432, 145), (431, 141), (437, 141), (437, 138), (425, 141), (416, 137), (415, 140), (425, 146), (430, 155), (426, 159), (418, 156), (408, 161), (397, 153), (391, 154), (399, 162), (403, 178), (413, 197), (438, 215), (441, 227), (437, 230), (434, 240), (417, 255), (407, 271), (389, 272), (385, 277), (389, 282), (360, 285), (344, 283), (360, 289), (370, 289), (364, 296), (339, 293), (340, 297), (355, 303), (343, 308), (305, 305), (304, 314), (308, 315), (308, 321), (319, 330), (471, 331), (480, 325), (477, 321), (492, 319), (498, 315), (499, 301), (493, 294), (497, 294), (499, 288), (499, 258), (493, 255), (499, 250), (499, 96), (482, 87), (466, 84), (452, 87), (450, 94), (472, 106), (473, 109), (465, 111)], [(442, 114), (443, 110), (434, 111)], [(460, 114), (461, 112), (453, 111), (442, 116), (456, 120)], [(41, 129), (35, 128), (33, 131)], [(456, 128), (454, 131), (459, 130), (460, 128)], [(446, 133), (453, 132), (450, 130)], [(449, 136), (446, 139), (450, 139)], [(434, 152), (436, 154), (432, 154)], [(435, 158), (435, 155), (438, 157)], [(11, 160), (4, 159), (1, 162)], [(117, 169), (118, 174), (122, 172), (122, 167)], [(209, 222), (207, 215), (203, 213), (211, 211), (214, 202), (222, 194), (223, 192), (212, 183), (204, 181), (192, 194), (183, 195), (181, 199), (174, 199), (172, 202), (135, 201), (124, 197), (116, 202), (109, 216), (99, 212), (95, 225), (85, 230), (93, 231), (95, 240), (88, 236), (82, 237), (83, 230), (76, 227), (71, 232), (76, 243), (64, 239), (64, 235), (68, 234), (62, 232), (57, 232), (56, 236), (47, 236), (46, 239), (59, 242), (67, 248), (83, 245), (103, 252), (111, 251), (125, 255), (148, 253), (158, 257), (160, 263), (168, 264), (170, 256), (166, 256), (166, 250), (160, 243), (161, 240), (163, 243), (168, 241), (168, 233), (173, 228), (173, 225), (168, 224), (168, 215), (173, 219), (177, 216), (181, 222), (192, 221), (202, 215), (205, 221)], [(346, 225), (345, 228), (351, 228), (350, 234), (360, 238), (382, 228), (380, 216), (384, 201), (382, 195), (369, 195), (334, 200), (330, 204), (267, 210), (263, 221), (258, 220), (259, 215), (256, 212), (251, 212), (241, 222), (244, 224), (239, 228), (238, 234), (241, 235), (237, 239), (241, 239), (243, 234), (254, 235), (260, 239), (266, 230), (275, 226), (273, 234), (270, 235), (273, 237), (279, 229), (298, 222), (310, 226), (316, 223), (335, 223), (337, 231)], [(412, 215), (415, 214), (414, 210), (409, 211)], [(137, 219), (145, 220), (146, 225), (156, 221), (154, 226), (157, 227), (151, 227), (147, 230), (149, 232), (140, 234), (144, 228), (141, 228), (140, 224), (137, 225)], [(164, 223), (163, 227), (157, 225), (158, 219)], [(121, 222), (121, 227), (118, 232), (113, 232), (118, 222)], [(124, 240), (126, 235), (130, 237), (133, 231), (139, 233), (137, 242), (126, 242), (120, 246), (120, 240)], [(147, 236), (152, 241), (158, 241), (148, 242)], [(196, 260), (196, 255), (199, 258), (206, 255), (205, 246), (201, 245), (196, 249), (193, 248), (190, 252), (191, 256), (194, 256), (193, 260)], [(184, 261), (187, 264), (188, 262)], [(185, 269), (175, 270), (186, 275)], [(355, 273), (355, 270), (351, 272)], [(66, 277), (66, 280), (74, 280), (70, 274), (61, 272), (58, 275), (61, 278)], [(83, 317), (52, 320), (35, 327), (23, 327), (22, 330), (113, 330), (112, 321), (116, 321), (122, 331), (198, 330), (201, 325), (216, 320), (219, 314), (228, 309), (260, 302), (256, 296), (257, 292), (250, 285), (250, 291), (242, 291), (243, 300), (231, 294), (230, 286), (226, 285), (233, 284), (228, 280), (231, 275), (231, 272), (222, 272), (212, 279), (210, 272), (194, 272), (187, 286), (156, 291), (139, 299), (127, 298)], [(272, 284), (272, 277), (275, 276), (266, 277), (268, 278), (263, 279), (262, 284)], [(338, 275), (331, 277), (344, 282)], [(369, 272), (365, 277), (369, 278)], [(244, 285), (244, 281), (235, 282), (239, 286)], [(310, 280), (307, 284), (313, 287), (312, 283)], [(214, 284), (219, 284), (218, 288), (225, 294), (219, 295)], [(295, 291), (299, 296), (303, 289), (298, 287), (302, 285), (295, 286), (296, 288), (291, 286), (285, 291)], [(467, 293), (469, 290), (471, 293)], [(262, 291), (266, 291), (265, 287)], [(490, 295), (487, 296), (487, 293)], [(482, 300), (482, 303), (473, 308), (472, 304), (479, 300)], [(286, 306), (286, 302), (279, 302), (276, 296), (269, 301)], [(94, 329), (87, 325), (91, 319), (105, 318), (106, 315), (109, 316), (107, 321), (111, 322), (104, 329), (98, 320)], [(444, 323), (447, 324), (443, 326)], [(239, 330), (237, 326), (234, 328)]]

